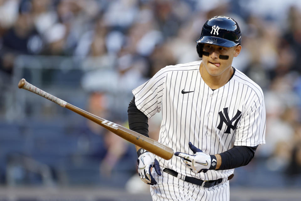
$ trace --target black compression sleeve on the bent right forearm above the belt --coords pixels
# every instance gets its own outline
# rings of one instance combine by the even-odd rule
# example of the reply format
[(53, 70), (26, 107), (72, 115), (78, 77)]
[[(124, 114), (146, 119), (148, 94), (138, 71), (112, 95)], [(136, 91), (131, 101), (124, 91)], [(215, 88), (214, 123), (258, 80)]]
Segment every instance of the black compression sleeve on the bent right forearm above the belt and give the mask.
[(257, 147), (234, 146), (232, 149), (220, 153), (222, 163), (219, 170), (229, 170), (247, 165), (254, 157)]

